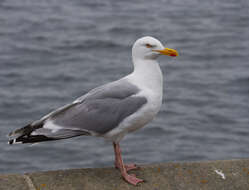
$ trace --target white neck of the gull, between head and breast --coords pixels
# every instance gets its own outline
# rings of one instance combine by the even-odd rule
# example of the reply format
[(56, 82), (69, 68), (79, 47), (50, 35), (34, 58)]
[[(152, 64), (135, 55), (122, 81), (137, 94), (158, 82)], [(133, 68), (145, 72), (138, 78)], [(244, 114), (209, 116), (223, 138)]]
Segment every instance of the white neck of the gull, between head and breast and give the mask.
[(162, 94), (163, 76), (158, 62), (151, 59), (135, 59), (133, 63), (134, 71), (129, 76), (132, 82)]

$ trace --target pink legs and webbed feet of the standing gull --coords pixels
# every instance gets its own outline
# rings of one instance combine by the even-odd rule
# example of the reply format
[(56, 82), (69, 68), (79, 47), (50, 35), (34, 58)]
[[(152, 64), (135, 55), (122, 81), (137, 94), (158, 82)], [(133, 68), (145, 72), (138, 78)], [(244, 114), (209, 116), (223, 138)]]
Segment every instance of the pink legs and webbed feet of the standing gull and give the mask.
[(117, 168), (119, 168), (121, 175), (123, 176), (123, 178), (130, 184), (132, 185), (137, 185), (138, 183), (143, 182), (142, 179), (136, 178), (135, 175), (129, 175), (127, 173), (127, 169), (129, 166), (132, 167), (134, 169), (134, 167), (136, 167), (135, 165), (129, 165), (129, 166), (125, 166), (124, 162), (122, 160), (121, 157), (121, 150), (120, 150), (120, 146), (119, 143), (113, 143), (113, 147), (114, 147), (114, 152), (115, 152), (115, 166)]

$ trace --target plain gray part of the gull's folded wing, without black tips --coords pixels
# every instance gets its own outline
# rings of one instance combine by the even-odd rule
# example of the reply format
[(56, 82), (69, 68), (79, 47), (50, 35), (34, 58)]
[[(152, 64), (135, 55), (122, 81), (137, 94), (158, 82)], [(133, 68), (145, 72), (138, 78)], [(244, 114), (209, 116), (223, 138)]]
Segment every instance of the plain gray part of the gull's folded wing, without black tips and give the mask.
[(53, 112), (46, 120), (63, 129), (105, 134), (147, 102), (145, 97), (135, 96), (138, 92), (135, 85), (124, 79), (109, 83)]

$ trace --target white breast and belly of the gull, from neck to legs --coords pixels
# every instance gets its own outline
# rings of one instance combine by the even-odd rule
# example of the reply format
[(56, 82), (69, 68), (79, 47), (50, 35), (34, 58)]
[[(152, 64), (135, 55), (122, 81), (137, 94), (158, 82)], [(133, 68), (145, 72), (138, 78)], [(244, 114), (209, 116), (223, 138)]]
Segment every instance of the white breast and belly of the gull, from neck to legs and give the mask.
[(150, 122), (160, 110), (162, 105), (163, 82), (162, 73), (157, 62), (148, 64), (148, 67), (140, 67), (139, 70), (128, 75), (129, 82), (138, 86), (141, 90), (136, 96), (147, 99), (137, 112), (124, 119), (118, 127), (104, 135), (105, 138), (118, 142), (129, 132), (135, 131)]

